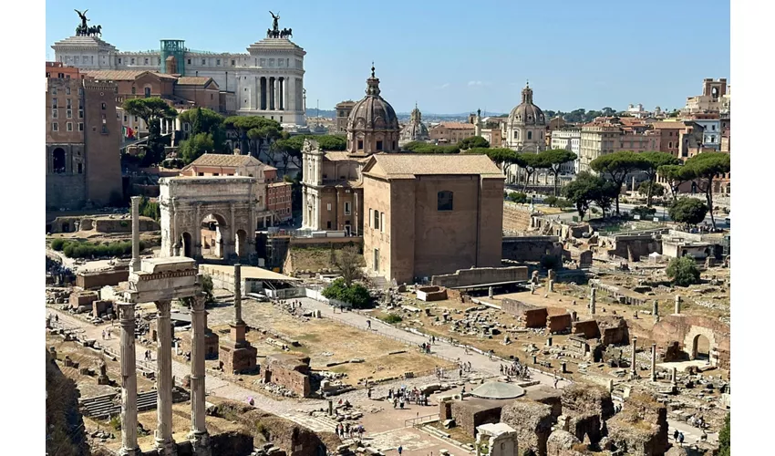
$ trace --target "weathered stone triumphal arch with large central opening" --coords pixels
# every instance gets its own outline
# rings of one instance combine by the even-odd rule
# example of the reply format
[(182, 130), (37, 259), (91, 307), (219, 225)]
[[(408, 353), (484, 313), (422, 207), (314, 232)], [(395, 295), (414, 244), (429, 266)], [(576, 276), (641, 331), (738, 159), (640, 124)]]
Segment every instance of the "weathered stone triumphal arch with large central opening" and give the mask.
[(160, 256), (257, 261), (255, 178), (177, 176), (159, 182)]

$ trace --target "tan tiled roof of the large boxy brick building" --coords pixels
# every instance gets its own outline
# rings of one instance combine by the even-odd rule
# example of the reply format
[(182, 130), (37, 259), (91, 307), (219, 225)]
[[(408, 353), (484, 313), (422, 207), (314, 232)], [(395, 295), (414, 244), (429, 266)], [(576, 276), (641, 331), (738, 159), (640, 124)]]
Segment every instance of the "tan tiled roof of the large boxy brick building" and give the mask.
[(429, 174), (478, 174), (503, 178), (503, 173), (486, 155), (378, 153), (372, 155), (364, 172), (386, 177)]

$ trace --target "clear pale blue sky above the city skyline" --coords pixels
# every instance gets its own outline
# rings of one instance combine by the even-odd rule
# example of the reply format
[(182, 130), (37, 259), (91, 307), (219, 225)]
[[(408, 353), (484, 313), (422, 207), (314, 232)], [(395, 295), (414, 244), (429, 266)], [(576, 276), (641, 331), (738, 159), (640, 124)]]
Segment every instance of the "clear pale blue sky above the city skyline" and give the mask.
[[(122, 51), (161, 38), (246, 52), (272, 24), (304, 47), (307, 107), (366, 89), (371, 61), (399, 112), (508, 112), (526, 79), (542, 109), (682, 107), (703, 78), (729, 78), (729, 2), (723, 0), (309, 0), (46, 2), (46, 54), (72, 36), (77, 7)], [(730, 84), (732, 81), (729, 78)]]

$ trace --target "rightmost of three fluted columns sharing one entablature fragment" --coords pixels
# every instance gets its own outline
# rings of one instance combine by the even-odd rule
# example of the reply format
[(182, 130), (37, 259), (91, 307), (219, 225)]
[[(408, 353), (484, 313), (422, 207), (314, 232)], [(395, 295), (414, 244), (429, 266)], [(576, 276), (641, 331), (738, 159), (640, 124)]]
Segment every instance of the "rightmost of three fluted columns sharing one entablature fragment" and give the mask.
[(204, 296), (198, 295), (191, 305), (191, 432), (189, 440), (196, 456), (210, 454), (210, 438), (204, 424), (204, 334), (207, 313)]

